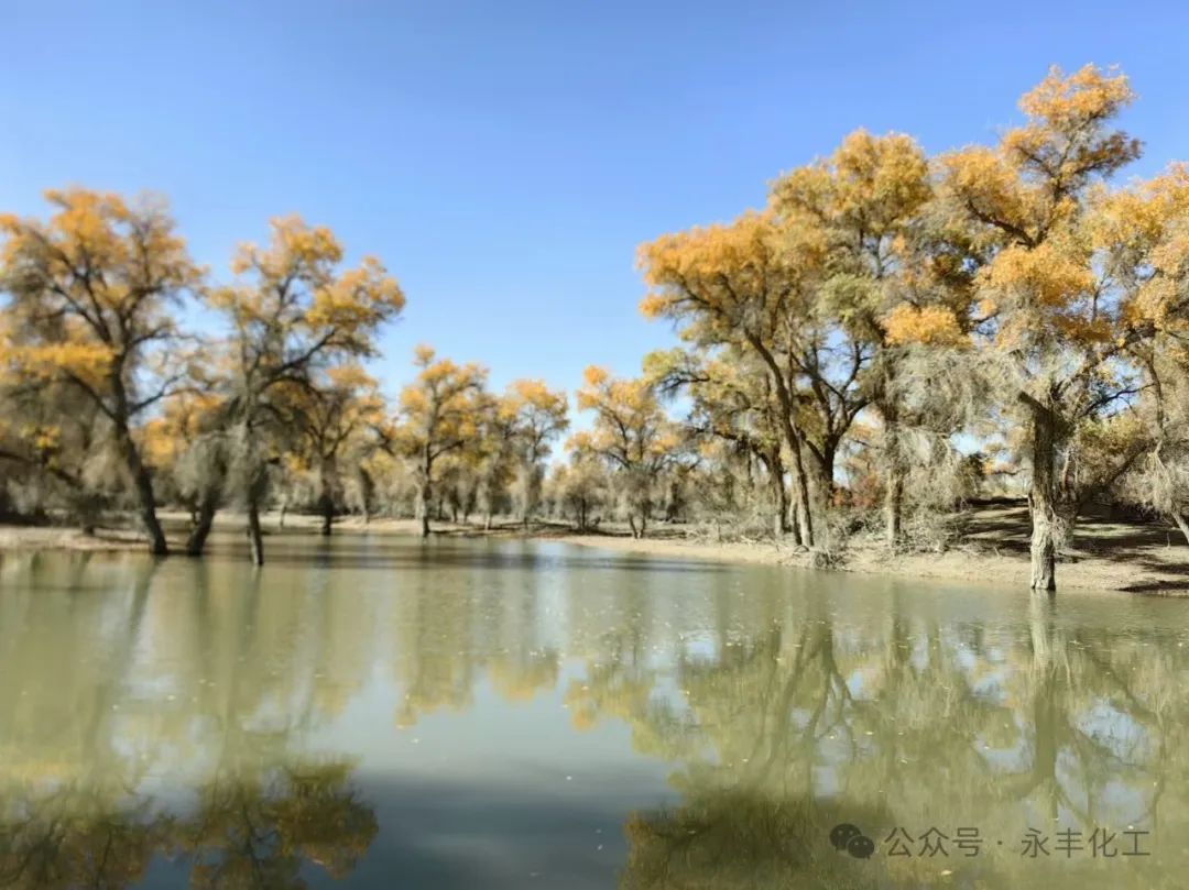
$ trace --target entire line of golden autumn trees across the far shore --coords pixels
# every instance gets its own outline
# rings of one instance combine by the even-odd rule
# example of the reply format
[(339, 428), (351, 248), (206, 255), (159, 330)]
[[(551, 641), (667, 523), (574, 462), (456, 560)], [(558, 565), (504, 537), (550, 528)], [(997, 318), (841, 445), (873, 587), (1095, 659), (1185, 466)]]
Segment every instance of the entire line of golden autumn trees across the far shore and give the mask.
[[(46, 221), (0, 217), (0, 497), (84, 526), (132, 498), (156, 554), (159, 504), (190, 511), (190, 554), (238, 506), (257, 562), (262, 510), (290, 504), (327, 534), (344, 510), (423, 534), (435, 515), (762, 523), (830, 560), (876, 520), (917, 545), (1008, 479), (1052, 589), (1092, 499), (1189, 537), (1189, 171), (1111, 184), (1140, 154), (1114, 122), (1132, 100), (1115, 71), (1053, 70), (993, 146), (858, 131), (762, 210), (642, 246), (641, 309), (681, 346), (636, 379), (587, 368), (590, 428), (548, 473), (568, 412), (540, 381), (492, 393), (423, 347), (385, 404), (361, 362), (404, 296), (375, 259), (342, 269), (329, 231), (276, 220), (215, 284), (162, 207), (50, 192)], [(184, 303), (221, 328), (184, 332)]]

